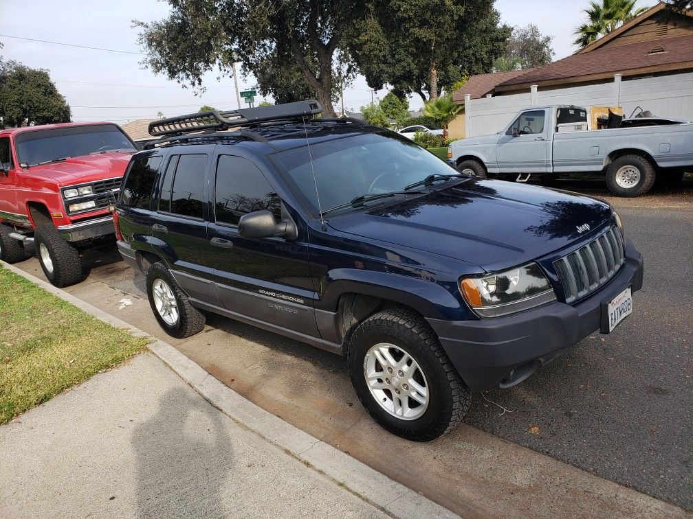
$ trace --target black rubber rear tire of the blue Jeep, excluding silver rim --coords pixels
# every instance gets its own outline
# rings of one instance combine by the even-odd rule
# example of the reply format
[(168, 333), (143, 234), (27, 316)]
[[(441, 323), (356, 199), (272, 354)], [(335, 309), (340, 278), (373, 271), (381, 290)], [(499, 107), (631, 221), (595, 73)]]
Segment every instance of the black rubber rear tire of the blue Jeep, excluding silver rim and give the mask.
[[(159, 309), (157, 309), (153, 289), (154, 283), (157, 280), (165, 282), (175, 298), (178, 315), (173, 323), (166, 322), (161, 316)], [(204, 329), (204, 314), (190, 304), (188, 296), (183, 293), (166, 265), (161, 262), (152, 264), (147, 271), (147, 296), (149, 298), (150, 307), (152, 307), (152, 312), (154, 312), (154, 316), (159, 322), (159, 326), (161, 326), (168, 335), (182, 339), (195, 335)]]

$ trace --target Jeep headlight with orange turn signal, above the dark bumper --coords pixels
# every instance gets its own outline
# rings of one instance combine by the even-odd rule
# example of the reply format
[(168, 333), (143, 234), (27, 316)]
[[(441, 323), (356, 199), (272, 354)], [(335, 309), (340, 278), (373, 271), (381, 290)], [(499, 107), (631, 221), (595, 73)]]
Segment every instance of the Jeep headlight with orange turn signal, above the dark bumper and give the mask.
[(507, 316), (556, 300), (549, 280), (536, 263), (484, 277), (466, 277), (459, 291), (481, 317)]

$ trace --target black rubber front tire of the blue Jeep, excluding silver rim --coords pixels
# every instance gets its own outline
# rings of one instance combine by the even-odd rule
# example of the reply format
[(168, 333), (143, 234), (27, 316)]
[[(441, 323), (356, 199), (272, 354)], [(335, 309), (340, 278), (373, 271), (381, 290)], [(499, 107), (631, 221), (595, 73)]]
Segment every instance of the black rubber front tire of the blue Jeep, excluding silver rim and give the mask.
[[(381, 404), (371, 394), (365, 376), (367, 354), (371, 347), (379, 343), (396, 345), (419, 365), (428, 392), (428, 406), (420, 416), (408, 420), (396, 417), (383, 408), (387, 404)], [(396, 350), (389, 351), (396, 353)], [(363, 321), (351, 336), (348, 363), (351, 383), (361, 403), (380, 426), (394, 435), (414, 441), (431, 441), (462, 421), (469, 408), (471, 391), (457, 375), (434, 331), (425, 320), (406, 309), (387, 309)], [(383, 374), (387, 374), (382, 364), (377, 365)], [(408, 390), (403, 381), (406, 379), (395, 382), (394, 379), (378, 378), (378, 383), (387, 383), (387, 387)], [(379, 397), (392, 397), (392, 391), (385, 389)]]

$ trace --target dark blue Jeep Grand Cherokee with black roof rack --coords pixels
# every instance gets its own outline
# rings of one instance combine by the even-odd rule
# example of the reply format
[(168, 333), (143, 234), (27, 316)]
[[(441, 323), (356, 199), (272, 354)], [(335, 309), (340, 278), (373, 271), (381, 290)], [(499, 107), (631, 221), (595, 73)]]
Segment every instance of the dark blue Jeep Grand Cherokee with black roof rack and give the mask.
[(642, 260), (608, 204), (460, 174), (315, 101), (160, 120), (114, 221), (155, 317), (212, 311), (346, 355), (387, 430), (426, 441), (631, 313)]

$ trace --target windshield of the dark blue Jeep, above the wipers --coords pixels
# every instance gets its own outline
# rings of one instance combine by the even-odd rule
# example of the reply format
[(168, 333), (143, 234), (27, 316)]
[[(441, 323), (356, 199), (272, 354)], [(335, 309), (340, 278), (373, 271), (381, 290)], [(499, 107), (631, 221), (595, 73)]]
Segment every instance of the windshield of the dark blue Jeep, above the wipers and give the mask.
[[(313, 157), (311, 166), (310, 156)], [(387, 201), (380, 194), (420, 193), (411, 188), (466, 177), (406, 138), (360, 134), (290, 149), (273, 156), (286, 182), (306, 208), (323, 214), (360, 207), (356, 201)], [(315, 170), (315, 179), (313, 179)], [(428, 181), (427, 181), (428, 179)], [(424, 182), (426, 181), (426, 182)], [(407, 190), (409, 188), (409, 190)]]

